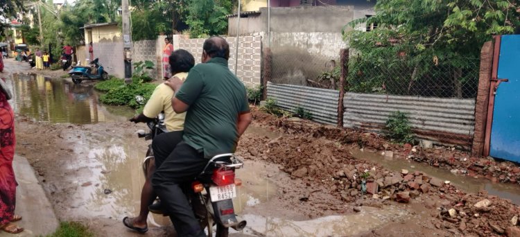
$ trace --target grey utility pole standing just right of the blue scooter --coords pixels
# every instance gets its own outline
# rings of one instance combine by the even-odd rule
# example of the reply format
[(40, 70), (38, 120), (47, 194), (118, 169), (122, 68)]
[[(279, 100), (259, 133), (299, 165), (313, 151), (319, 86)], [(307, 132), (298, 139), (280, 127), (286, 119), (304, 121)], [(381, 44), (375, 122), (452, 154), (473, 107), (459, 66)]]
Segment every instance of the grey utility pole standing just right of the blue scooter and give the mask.
[(130, 32), (130, 11), (128, 10), (128, 0), (121, 0), (123, 11), (123, 60), (125, 64), (125, 82), (132, 82), (132, 37)]

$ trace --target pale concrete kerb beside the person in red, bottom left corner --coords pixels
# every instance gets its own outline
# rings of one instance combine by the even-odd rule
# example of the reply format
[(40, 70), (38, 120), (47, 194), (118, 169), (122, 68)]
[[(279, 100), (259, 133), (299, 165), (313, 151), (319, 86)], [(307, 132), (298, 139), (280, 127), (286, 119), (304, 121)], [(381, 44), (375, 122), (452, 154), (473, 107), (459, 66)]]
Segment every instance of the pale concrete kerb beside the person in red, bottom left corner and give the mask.
[(46, 236), (58, 228), (51, 202), (47, 199), (42, 186), (36, 179), (33, 167), (25, 157), (15, 155), (12, 164), (18, 182), (15, 213), (23, 219), (16, 222), (24, 231), (20, 234), (8, 234), (0, 231), (0, 237)]

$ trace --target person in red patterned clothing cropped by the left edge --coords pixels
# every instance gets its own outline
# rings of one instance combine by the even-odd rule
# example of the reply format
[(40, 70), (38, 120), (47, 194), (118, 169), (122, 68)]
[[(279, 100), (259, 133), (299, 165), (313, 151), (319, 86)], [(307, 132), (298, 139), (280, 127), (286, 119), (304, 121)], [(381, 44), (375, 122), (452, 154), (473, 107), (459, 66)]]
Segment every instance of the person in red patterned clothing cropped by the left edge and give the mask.
[(15, 215), (16, 186), (12, 159), (15, 157), (15, 114), (7, 100), (12, 97), (6, 82), (0, 80), (0, 229), (10, 234), (24, 231), (13, 222), (21, 220)]

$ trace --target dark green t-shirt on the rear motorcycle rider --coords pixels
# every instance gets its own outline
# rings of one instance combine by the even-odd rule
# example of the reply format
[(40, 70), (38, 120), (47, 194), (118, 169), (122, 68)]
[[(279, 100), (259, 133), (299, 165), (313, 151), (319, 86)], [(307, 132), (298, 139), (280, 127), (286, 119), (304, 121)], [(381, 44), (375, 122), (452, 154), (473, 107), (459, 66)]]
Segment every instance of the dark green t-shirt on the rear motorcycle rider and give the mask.
[(234, 152), (239, 114), (249, 112), (243, 83), (229, 71), (227, 60), (197, 64), (175, 97), (189, 105), (182, 140), (206, 158)]

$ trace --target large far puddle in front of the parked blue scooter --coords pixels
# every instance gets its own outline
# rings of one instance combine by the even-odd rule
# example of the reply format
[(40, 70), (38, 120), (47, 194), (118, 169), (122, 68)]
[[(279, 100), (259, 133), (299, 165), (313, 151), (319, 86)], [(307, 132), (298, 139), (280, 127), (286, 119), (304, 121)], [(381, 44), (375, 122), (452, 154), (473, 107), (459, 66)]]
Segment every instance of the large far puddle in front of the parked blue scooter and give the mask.
[(99, 123), (125, 121), (134, 111), (127, 107), (101, 105), (92, 85), (75, 85), (42, 75), (13, 74), (7, 80), (17, 114), (51, 123)]

